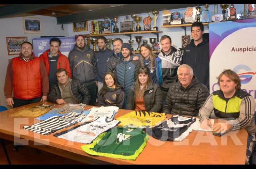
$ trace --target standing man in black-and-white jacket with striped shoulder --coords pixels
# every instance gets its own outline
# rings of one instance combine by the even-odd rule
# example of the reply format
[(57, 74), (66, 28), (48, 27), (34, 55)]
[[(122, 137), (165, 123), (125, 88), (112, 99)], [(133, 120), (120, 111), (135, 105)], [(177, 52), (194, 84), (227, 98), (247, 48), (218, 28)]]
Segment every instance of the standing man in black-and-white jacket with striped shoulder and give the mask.
[(171, 83), (177, 78), (177, 70), (182, 61), (182, 52), (172, 46), (170, 36), (164, 35), (160, 39), (162, 50), (158, 57), (162, 63), (162, 85), (160, 86), (163, 92), (163, 100)]

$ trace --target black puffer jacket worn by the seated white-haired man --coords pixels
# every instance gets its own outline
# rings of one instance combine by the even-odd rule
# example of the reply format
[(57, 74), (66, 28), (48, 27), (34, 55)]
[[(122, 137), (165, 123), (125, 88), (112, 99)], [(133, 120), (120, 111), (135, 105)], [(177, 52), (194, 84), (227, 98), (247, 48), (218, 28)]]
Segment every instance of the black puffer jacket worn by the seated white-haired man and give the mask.
[(209, 94), (207, 87), (200, 83), (195, 76), (186, 89), (177, 78), (167, 92), (163, 113), (197, 115)]

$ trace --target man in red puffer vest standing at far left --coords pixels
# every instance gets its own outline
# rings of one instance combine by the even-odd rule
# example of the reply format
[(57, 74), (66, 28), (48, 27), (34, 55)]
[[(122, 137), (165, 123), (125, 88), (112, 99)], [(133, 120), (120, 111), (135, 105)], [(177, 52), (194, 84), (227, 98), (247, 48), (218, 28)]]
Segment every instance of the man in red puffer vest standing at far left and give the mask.
[(6, 105), (19, 107), (46, 101), (48, 92), (49, 81), (44, 63), (34, 55), (32, 44), (23, 42), (20, 56), (12, 58), (8, 64), (4, 83)]

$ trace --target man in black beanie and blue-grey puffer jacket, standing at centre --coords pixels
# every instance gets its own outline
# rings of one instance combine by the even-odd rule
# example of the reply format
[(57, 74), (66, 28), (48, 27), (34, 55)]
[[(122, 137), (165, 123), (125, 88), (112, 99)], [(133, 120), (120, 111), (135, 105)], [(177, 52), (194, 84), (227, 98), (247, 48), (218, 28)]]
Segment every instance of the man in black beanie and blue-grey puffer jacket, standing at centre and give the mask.
[[(124, 43), (121, 48), (123, 58), (116, 65), (117, 80), (124, 87), (125, 98), (127, 98), (131, 86), (134, 84), (138, 70), (140, 68), (139, 60), (132, 60), (132, 46), (129, 43)], [(126, 99), (123, 108), (126, 107)]]

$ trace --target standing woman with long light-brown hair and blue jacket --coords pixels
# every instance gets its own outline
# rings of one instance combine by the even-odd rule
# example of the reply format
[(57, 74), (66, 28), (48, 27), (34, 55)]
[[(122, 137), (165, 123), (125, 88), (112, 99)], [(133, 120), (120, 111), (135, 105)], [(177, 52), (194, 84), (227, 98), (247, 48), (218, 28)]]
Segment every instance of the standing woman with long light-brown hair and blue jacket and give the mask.
[(153, 54), (150, 45), (147, 43), (140, 46), (140, 64), (148, 67), (153, 83), (160, 86), (162, 84), (161, 59)]

